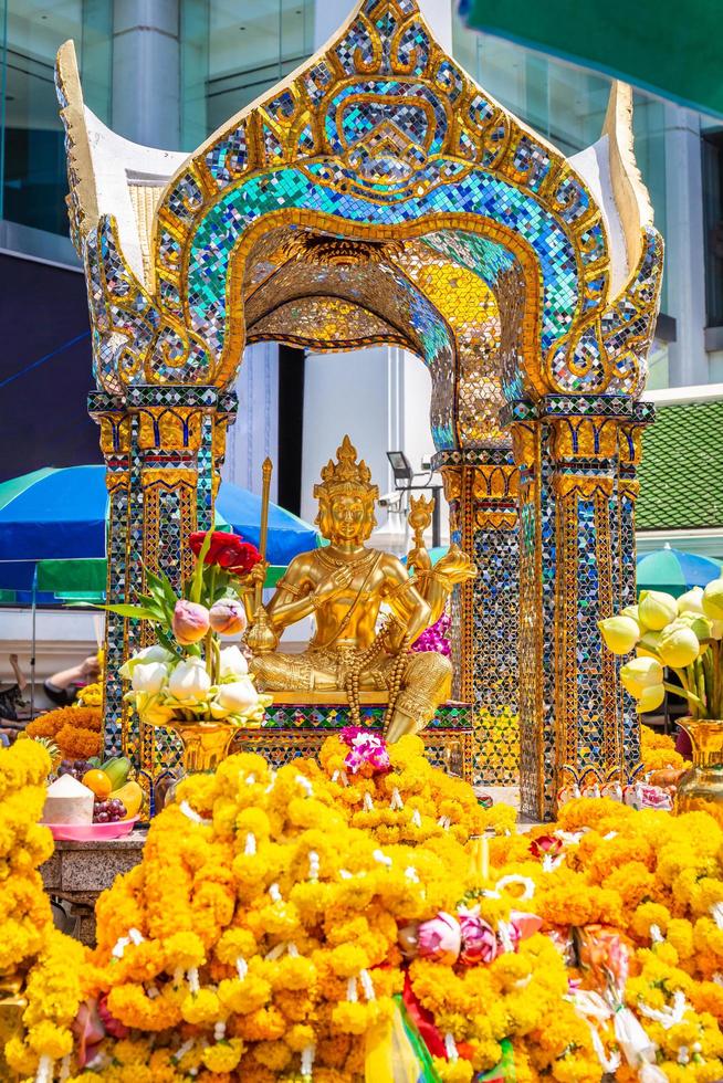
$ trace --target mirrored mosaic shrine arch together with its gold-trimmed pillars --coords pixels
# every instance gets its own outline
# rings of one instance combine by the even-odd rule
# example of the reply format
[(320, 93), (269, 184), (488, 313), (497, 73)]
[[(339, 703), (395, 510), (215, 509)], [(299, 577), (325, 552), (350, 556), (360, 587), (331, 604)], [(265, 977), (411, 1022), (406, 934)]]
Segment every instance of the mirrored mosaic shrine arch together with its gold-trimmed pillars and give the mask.
[[(189, 156), (140, 281), (88, 194), (77, 72), (60, 61), (56, 86), (111, 493), (108, 597), (133, 599), (143, 560), (177, 579), (188, 532), (211, 522), (234, 412), (223, 389), (245, 343), (394, 343), (430, 370), (452, 534), (480, 568), (452, 606), (476, 769), (512, 770), (517, 708), (533, 814), (552, 814), (568, 763), (631, 769), (631, 704), (596, 622), (632, 590), (653, 227), (637, 249), (626, 234), (640, 255), (611, 295), (601, 209), (570, 162), (444, 54), (413, 0), (362, 0), (322, 54)], [(108, 658), (137, 639), (108, 621)], [(124, 717), (122, 691), (109, 674), (108, 748), (150, 769), (172, 749)]]

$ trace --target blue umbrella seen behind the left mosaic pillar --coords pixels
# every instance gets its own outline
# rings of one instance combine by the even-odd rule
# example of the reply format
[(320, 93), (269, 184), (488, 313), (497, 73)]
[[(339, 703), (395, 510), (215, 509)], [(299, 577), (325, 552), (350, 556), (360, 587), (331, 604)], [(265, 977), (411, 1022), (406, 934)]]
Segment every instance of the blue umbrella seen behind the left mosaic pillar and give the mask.
[[(40, 560), (105, 557), (107, 505), (103, 466), (46, 466), (0, 484), (0, 587), (30, 589)], [(216, 509), (218, 526), (259, 543), (261, 497), (222, 482)], [(308, 523), (271, 505), (271, 564), (289, 564), (317, 538)]]

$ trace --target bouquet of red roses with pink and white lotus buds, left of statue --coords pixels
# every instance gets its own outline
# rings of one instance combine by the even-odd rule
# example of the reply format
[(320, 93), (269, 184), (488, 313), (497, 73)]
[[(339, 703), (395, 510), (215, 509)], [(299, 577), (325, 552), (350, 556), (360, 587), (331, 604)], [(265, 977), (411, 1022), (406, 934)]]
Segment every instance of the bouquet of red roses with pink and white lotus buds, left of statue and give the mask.
[(158, 643), (136, 651), (120, 667), (130, 682), (126, 698), (153, 726), (172, 722), (223, 722), (260, 726), (270, 697), (256, 692), (247, 660), (219, 637), (243, 633), (242, 596), (261, 560), (258, 549), (221, 530), (191, 534), (197, 561), (179, 598), (164, 575), (146, 569), (147, 595), (138, 604), (107, 606), (123, 617), (153, 623)]

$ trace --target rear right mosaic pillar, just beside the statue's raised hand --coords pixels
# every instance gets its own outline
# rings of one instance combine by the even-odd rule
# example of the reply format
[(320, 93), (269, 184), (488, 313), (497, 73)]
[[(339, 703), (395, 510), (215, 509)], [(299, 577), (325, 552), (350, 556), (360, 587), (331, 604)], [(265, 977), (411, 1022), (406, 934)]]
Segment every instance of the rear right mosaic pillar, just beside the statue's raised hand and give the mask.
[(510, 448), (439, 452), (452, 540), (478, 577), (452, 596), (453, 694), (475, 705), (475, 781), (517, 781), (517, 469)]

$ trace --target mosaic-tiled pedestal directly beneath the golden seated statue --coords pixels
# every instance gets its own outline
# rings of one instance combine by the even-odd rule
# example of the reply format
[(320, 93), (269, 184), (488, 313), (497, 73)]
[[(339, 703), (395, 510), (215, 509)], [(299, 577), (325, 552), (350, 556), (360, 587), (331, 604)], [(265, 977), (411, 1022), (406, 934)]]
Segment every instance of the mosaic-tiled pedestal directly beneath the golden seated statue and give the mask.
[[(230, 751), (258, 753), (277, 768), (298, 756), (315, 756), (327, 737), (349, 724), (348, 702), (340, 702), (338, 692), (304, 693), (304, 703), (298, 698), (298, 693), (275, 693), (263, 728), (239, 730)], [(386, 696), (362, 693), (362, 725), (381, 733), (386, 704)], [(472, 704), (450, 700), (421, 734), (430, 764), (468, 782), (473, 772), (473, 714)]]

